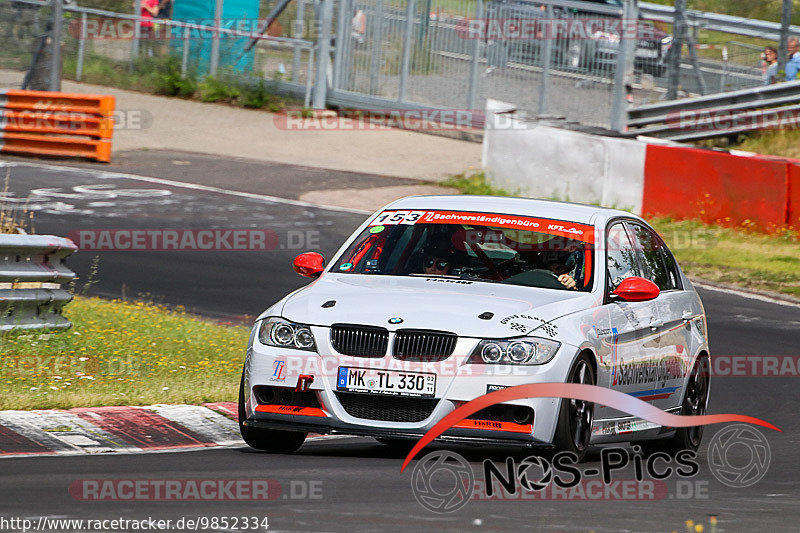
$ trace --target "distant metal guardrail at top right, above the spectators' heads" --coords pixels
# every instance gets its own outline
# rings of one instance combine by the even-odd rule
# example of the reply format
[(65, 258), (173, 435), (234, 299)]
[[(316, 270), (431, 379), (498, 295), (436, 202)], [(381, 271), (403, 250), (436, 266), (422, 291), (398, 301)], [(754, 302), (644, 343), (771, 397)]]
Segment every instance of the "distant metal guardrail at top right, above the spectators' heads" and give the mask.
[[(639, 2), (639, 12), (642, 18), (662, 22), (671, 23), (675, 17), (674, 6), (663, 6), (647, 2)], [(762, 39), (769, 39), (772, 41), (778, 41), (781, 34), (781, 25), (778, 22), (747, 19), (744, 17), (734, 17), (705, 11), (687, 10), (686, 22), (689, 26), (733, 33), (735, 35), (746, 35), (748, 37), (761, 37)], [(800, 26), (790, 26), (789, 33), (791, 35), (800, 36)]]

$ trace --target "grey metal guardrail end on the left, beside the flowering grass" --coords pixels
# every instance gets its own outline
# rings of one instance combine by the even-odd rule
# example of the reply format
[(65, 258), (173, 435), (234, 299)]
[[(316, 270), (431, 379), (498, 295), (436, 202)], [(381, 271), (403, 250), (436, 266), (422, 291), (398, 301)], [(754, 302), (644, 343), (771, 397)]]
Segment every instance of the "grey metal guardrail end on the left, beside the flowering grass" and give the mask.
[(75, 279), (64, 261), (78, 249), (62, 237), (0, 234), (0, 331), (65, 329), (61, 316)]

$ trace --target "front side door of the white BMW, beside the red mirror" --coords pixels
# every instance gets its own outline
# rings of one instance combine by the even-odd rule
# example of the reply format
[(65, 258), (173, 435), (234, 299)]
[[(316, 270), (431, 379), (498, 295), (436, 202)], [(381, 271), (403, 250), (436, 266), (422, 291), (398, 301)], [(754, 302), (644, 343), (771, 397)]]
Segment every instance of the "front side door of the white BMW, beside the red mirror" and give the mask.
[[(606, 304), (608, 326), (597, 330), (607, 348), (602, 363), (606, 369), (606, 385), (614, 390), (642, 396), (650, 388), (647, 381), (649, 362), (659, 354), (657, 330), (660, 324), (658, 307), (653, 301), (626, 302), (613, 297), (622, 280), (641, 276), (642, 266), (633, 239), (623, 220), (613, 222), (606, 235)], [(627, 416), (603, 409), (598, 418)]]

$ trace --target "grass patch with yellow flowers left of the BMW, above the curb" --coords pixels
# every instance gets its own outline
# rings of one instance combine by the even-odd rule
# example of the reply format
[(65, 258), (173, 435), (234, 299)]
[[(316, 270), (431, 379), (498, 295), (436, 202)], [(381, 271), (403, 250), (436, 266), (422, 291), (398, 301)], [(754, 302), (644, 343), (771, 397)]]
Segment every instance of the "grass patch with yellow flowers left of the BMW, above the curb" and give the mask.
[(73, 328), (0, 336), (0, 410), (236, 399), (249, 328), (76, 297)]

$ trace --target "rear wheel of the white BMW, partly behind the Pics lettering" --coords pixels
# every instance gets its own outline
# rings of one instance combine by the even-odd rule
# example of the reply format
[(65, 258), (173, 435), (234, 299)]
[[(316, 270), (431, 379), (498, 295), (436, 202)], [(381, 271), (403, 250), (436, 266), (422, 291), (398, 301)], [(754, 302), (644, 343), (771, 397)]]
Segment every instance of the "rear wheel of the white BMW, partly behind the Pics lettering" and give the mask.
[[(709, 391), (708, 358), (701, 356), (692, 368), (686, 383), (686, 392), (681, 402), (681, 415), (700, 416), (706, 414)], [(697, 451), (703, 440), (703, 426), (678, 428), (668, 439), (658, 439), (638, 443), (645, 454), (667, 452), (670, 455), (681, 450)], [(637, 444), (637, 443), (633, 443)]]

